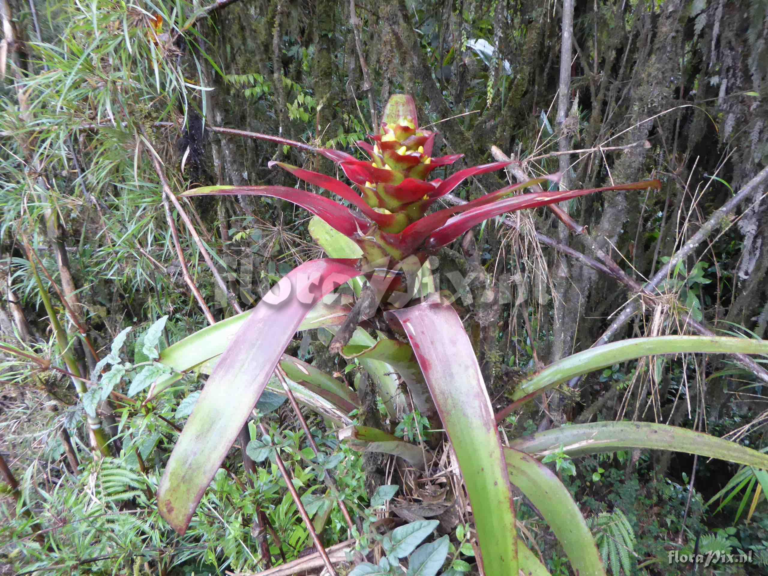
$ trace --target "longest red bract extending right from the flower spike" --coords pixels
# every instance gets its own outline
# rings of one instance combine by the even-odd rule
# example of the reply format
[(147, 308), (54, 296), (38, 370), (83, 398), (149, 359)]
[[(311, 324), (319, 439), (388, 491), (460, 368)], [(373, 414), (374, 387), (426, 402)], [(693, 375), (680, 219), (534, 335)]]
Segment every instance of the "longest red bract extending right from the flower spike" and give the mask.
[[(590, 188), (586, 190), (555, 190), (554, 192), (544, 192), (543, 194), (521, 194), (520, 196), (515, 196), (513, 198), (497, 200), (491, 204), (479, 206), (473, 210), (467, 210), (463, 214), (458, 214), (458, 216), (452, 217), (444, 226), (429, 235), (425, 245), (428, 249), (445, 246), (445, 244), (452, 242), (473, 226), (484, 220), (488, 220), (488, 218), (504, 214), (505, 212), (522, 210), (524, 208), (538, 208), (540, 206), (547, 206), (548, 204), (557, 204), (564, 200), (571, 200), (571, 198), (586, 196), (587, 194), (594, 194), (595, 192), (603, 192), (607, 190), (642, 190), (644, 188), (657, 186), (660, 186), (659, 180), (650, 180), (647, 182), (634, 182), (632, 184), (620, 184), (618, 186)], [(406, 233), (407, 230), (408, 228), (406, 228), (403, 233)]]

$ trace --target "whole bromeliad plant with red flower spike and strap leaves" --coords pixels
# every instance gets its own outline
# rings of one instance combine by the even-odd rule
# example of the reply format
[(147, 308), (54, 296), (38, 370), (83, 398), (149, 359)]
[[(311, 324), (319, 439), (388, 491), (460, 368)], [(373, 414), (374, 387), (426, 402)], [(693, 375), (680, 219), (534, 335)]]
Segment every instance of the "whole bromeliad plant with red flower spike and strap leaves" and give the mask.
[[(448, 166), (462, 155), (432, 157), (435, 133), (419, 128), (415, 104), (405, 95), (390, 98), (381, 131), (373, 136), (374, 144), (359, 143), (369, 154), (367, 161), (279, 137), (263, 139), (313, 151), (338, 164), (359, 193), (325, 174), (276, 163), (296, 177), (336, 194), (351, 207), (310, 191), (280, 186), (214, 186), (190, 190), (185, 195), (250, 194), (289, 200), (315, 214), (351, 243), (342, 240), (356, 247), (341, 247), (339, 234), (316, 234), (319, 243), (336, 259), (313, 260), (298, 266), (253, 310), (188, 336), (161, 354), (160, 361), (178, 372), (197, 366), (210, 372), (157, 492), (161, 514), (178, 532), (186, 531), (200, 498), (262, 392), (283, 392), (273, 379), (276, 369), (280, 370), (281, 382), (286, 380), (300, 402), (346, 426), (339, 437), (353, 448), (389, 452), (406, 458), (414, 468), (424, 467), (423, 462), (419, 465), (424, 450), (386, 432), (353, 424), (347, 415), (359, 407), (359, 399), (344, 382), (283, 353), (298, 330), (319, 326), (349, 328), (350, 323), (355, 323), (359, 315), (354, 310), (366, 297), (366, 293), (360, 292), (360, 285), (355, 309), (350, 310), (348, 300), (329, 297), (336, 287), (353, 279), (359, 282), (362, 276), (369, 281), (367, 293), (374, 293), (378, 299), (374, 310), (381, 310), (391, 324), (399, 325), (407, 342), (388, 339), (380, 333), (378, 340), (372, 339), (358, 327), (349, 343), (346, 339), (342, 343), (348, 345), (341, 352), (369, 372), (392, 419), (409, 412), (393, 376), (397, 372), (406, 382), (415, 408), (431, 422), (442, 420), (439, 428), (445, 429), (452, 443), (472, 505), (485, 574), (518, 574), (518, 569), (546, 574), (535, 556), (519, 544), (512, 485), (544, 515), (574, 571), (605, 574), (598, 548), (578, 506), (558, 477), (537, 459), (548, 453), (561, 451), (574, 456), (630, 447), (676, 446), (694, 454), (756, 468), (768, 467), (765, 455), (733, 442), (653, 424), (572, 425), (503, 446), (497, 422), (508, 411), (494, 415), (462, 320), (435, 292), (434, 283), (429, 282), (429, 270), (421, 267), (434, 250), (490, 217), (601, 190), (658, 187), (657, 180), (591, 190), (515, 195), (525, 187), (558, 180), (557, 176), (538, 178), (504, 187), (459, 207), (427, 214), (440, 197), (466, 178), (499, 170), (508, 163), (465, 168), (444, 180), (428, 180), (432, 170)], [(419, 281), (404, 281), (412, 280), (414, 276), (409, 278), (408, 273), (414, 270)], [(412, 300), (417, 288), (421, 298)], [(397, 297), (392, 298), (393, 295)], [(382, 301), (385, 303), (378, 309)], [(679, 352), (766, 353), (768, 344), (737, 338), (667, 336), (599, 346), (555, 362), (531, 376), (515, 390), (515, 403), (510, 409), (573, 376), (626, 359)], [(151, 396), (160, 394), (178, 377), (157, 382)]]

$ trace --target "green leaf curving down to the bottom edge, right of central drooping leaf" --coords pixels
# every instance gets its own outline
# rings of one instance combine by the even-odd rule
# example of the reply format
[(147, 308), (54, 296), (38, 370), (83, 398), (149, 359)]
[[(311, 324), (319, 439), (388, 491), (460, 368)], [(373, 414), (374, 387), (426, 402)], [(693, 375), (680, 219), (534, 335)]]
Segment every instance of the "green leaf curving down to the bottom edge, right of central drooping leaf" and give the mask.
[[(574, 572), (605, 576), (598, 547), (568, 488), (536, 458), (512, 449), (505, 449), (504, 455), (510, 481), (544, 516)], [(524, 546), (518, 541), (518, 551)]]

